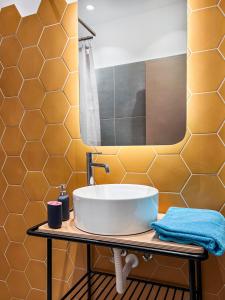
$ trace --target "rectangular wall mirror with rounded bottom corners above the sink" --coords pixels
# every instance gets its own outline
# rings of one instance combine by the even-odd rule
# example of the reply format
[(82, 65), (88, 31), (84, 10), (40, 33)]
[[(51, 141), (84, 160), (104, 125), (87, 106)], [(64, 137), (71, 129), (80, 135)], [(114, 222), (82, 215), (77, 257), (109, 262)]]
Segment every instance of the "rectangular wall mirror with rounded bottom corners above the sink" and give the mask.
[(80, 0), (81, 137), (171, 145), (186, 132), (186, 0)]

